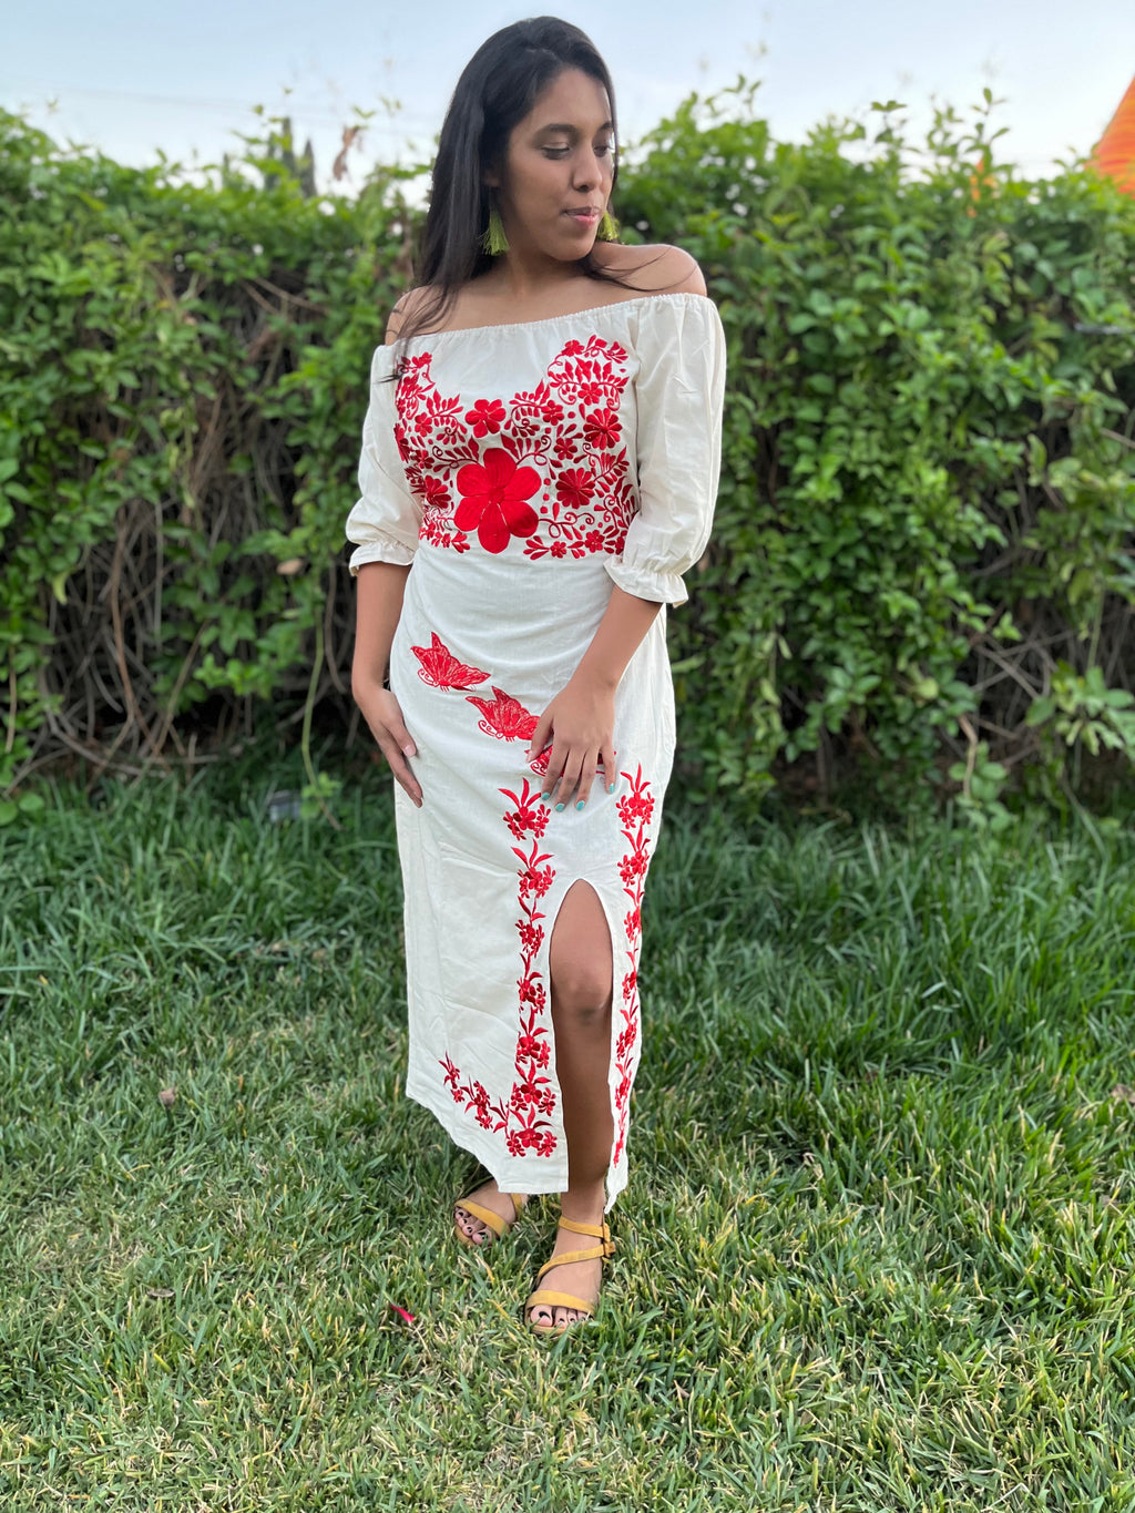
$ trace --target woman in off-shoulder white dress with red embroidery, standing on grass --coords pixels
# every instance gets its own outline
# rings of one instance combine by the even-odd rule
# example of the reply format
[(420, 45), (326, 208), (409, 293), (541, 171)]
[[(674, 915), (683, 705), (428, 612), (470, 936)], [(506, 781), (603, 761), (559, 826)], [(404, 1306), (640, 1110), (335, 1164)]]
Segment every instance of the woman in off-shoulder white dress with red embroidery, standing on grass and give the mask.
[(525, 1306), (545, 1333), (595, 1313), (614, 1250), (673, 755), (663, 607), (720, 455), (720, 321), (686, 253), (614, 242), (614, 141), (577, 27), (521, 21), (471, 59), (347, 527), (353, 691), (398, 782), (406, 1091), (492, 1174), (463, 1242), (560, 1194), (555, 1288)]

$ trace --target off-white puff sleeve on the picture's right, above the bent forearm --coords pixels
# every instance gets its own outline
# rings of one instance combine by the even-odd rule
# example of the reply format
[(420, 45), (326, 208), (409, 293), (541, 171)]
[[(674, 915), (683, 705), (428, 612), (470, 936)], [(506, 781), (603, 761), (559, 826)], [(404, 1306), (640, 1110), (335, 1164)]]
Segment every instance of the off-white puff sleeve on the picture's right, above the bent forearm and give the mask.
[(639, 511), (607, 572), (639, 599), (684, 604), (710, 539), (722, 457), (725, 333), (705, 295), (643, 301), (636, 452)]

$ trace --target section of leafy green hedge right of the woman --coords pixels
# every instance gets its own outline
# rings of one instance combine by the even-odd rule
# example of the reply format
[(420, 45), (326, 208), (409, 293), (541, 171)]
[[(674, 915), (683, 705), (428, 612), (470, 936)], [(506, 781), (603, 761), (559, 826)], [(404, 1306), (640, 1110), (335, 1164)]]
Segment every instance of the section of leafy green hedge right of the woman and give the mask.
[(1050, 738), (1062, 666), (1123, 685), (1106, 744), (1135, 760), (1135, 203), (991, 166), (988, 110), (940, 112), (916, 157), (878, 109), (870, 144), (793, 147), (748, 89), (689, 101), (627, 176), (623, 216), (699, 257), (729, 336), (686, 735), (705, 787), (752, 794), (778, 756), (823, 778), (835, 737), (881, 788), (990, 743), (1055, 794), (1096, 728)]

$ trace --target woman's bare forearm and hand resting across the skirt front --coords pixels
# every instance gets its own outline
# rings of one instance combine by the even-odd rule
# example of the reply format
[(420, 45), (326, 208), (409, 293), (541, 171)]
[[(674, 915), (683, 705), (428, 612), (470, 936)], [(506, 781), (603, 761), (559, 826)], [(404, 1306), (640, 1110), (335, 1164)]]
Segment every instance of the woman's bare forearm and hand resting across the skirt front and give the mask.
[(552, 738), (540, 796), (566, 806), (575, 794), (583, 808), (602, 761), (607, 791), (614, 791), (614, 690), (658, 614), (661, 604), (637, 599), (611, 586), (611, 598), (571, 681), (545, 708), (533, 732), (528, 761)]

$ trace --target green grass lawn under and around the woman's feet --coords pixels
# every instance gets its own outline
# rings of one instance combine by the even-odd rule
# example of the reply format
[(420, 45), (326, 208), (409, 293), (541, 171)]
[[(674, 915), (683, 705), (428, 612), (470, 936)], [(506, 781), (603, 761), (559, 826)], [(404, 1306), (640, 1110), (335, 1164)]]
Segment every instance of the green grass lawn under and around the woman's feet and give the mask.
[(401, 1095), (384, 784), (339, 834), (271, 785), (0, 832), (5, 1513), (1135, 1507), (1129, 835), (673, 808), (619, 1254), (549, 1345), (551, 1201), (462, 1250)]

